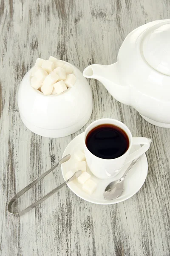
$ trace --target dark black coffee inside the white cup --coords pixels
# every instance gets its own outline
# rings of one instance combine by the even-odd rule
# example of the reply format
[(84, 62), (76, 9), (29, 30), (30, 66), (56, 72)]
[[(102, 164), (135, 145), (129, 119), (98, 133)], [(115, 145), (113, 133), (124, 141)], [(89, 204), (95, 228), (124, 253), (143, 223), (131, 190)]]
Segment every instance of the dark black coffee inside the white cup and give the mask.
[(89, 131), (85, 144), (96, 157), (114, 159), (125, 154), (129, 148), (129, 138), (116, 125), (98, 125)]

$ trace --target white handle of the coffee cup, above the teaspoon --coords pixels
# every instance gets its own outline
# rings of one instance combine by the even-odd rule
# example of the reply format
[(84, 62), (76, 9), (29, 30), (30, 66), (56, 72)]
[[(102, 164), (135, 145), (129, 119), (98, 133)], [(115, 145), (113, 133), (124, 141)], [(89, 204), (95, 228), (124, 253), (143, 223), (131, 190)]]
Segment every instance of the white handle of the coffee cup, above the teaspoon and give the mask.
[(144, 138), (144, 137), (133, 137), (132, 138), (132, 145), (142, 145), (141, 148), (137, 149), (135, 152), (128, 155), (125, 163), (132, 162), (137, 157), (140, 157), (142, 154), (144, 154), (148, 148), (150, 147), (150, 139)]

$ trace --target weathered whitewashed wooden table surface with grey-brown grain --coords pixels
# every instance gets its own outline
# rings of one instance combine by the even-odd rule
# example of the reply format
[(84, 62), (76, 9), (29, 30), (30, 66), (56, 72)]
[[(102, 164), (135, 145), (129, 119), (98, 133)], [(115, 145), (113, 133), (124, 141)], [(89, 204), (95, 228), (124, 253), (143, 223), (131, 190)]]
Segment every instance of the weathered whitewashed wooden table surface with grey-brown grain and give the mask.
[[(111, 64), (130, 31), (170, 17), (167, 0), (0, 1), (0, 256), (169, 256), (170, 129), (146, 122), (94, 79), (91, 119), (77, 133), (40, 137), (20, 119), (17, 90), (38, 57), (53, 55), (81, 71)], [(14, 218), (10, 198), (54, 166), (68, 143), (95, 119), (124, 122), (133, 136), (151, 137), (148, 175), (132, 198), (115, 205), (83, 201), (65, 186), (36, 209)], [(21, 208), (63, 182), (60, 170), (26, 193)]]

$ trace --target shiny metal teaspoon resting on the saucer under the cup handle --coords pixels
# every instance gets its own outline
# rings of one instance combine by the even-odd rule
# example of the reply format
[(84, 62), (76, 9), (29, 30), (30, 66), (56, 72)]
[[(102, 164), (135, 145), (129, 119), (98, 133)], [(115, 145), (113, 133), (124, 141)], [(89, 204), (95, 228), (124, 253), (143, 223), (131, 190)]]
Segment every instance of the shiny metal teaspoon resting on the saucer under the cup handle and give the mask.
[[(150, 143), (151, 142), (152, 142), (152, 140), (150, 140)], [(105, 188), (105, 191), (103, 193), (103, 196), (106, 200), (113, 200), (115, 198), (118, 198), (122, 194), (123, 189), (124, 189), (124, 180), (125, 180), (127, 173), (132, 169), (132, 167), (142, 157), (142, 155), (132, 161), (130, 166), (126, 169), (125, 173), (119, 180), (114, 180), (108, 184), (108, 186)]]

